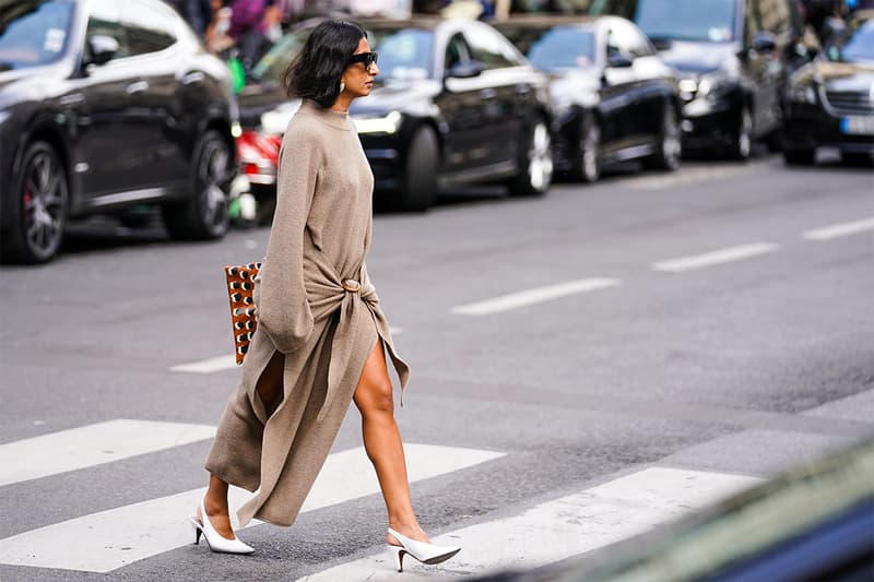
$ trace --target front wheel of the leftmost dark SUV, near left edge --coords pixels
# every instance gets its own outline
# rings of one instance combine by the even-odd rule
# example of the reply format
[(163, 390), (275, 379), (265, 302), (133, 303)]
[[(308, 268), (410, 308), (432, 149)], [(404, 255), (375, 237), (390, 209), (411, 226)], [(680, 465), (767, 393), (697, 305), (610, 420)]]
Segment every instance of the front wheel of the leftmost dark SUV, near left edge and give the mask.
[(58, 252), (67, 226), (67, 170), (46, 142), (27, 147), (14, 186), (15, 218), (0, 249), (8, 262), (44, 263)]

